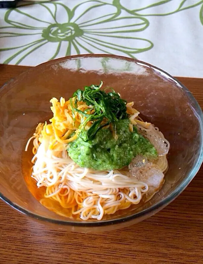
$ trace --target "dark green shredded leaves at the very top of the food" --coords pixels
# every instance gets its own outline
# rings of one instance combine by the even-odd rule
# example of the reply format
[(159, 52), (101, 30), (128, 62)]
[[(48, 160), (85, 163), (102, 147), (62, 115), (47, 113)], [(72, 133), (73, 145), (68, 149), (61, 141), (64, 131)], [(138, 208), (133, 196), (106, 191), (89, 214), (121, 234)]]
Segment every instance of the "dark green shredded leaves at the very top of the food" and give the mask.
[[(94, 109), (94, 112), (87, 114), (87, 112), (80, 111), (72, 105), (72, 111), (77, 111), (82, 114), (86, 119), (84, 122), (81, 122), (81, 133), (79, 137), (82, 138), (84, 142), (92, 140), (97, 132), (106, 127), (110, 123), (117, 122), (121, 119), (128, 119), (128, 114), (126, 113), (126, 100), (121, 99), (120, 95), (116, 93), (113, 89), (111, 92), (106, 93), (105, 91), (100, 90), (102, 86), (100, 85), (91, 85), (85, 86), (84, 90), (78, 89), (74, 92), (73, 97), (75, 97), (79, 102), (85, 102), (88, 106)], [(88, 109), (89, 110), (91, 110)], [(101, 124), (103, 120), (106, 120), (104, 124)], [(86, 124), (89, 121), (94, 121), (92, 126), (88, 129), (87, 133), (83, 133)]]

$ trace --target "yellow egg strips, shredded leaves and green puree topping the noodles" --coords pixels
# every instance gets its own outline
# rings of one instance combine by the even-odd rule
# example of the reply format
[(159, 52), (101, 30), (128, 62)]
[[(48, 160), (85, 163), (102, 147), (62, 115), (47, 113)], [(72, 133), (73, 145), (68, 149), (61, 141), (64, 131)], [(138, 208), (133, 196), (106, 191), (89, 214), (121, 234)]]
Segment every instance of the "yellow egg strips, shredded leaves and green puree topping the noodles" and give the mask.
[(52, 126), (45, 124), (41, 133), (50, 137), (49, 148), (67, 148), (79, 166), (95, 170), (121, 169), (139, 154), (156, 159), (156, 149), (130, 119), (139, 112), (114, 90), (102, 91), (101, 85), (78, 89), (66, 102), (51, 99)]

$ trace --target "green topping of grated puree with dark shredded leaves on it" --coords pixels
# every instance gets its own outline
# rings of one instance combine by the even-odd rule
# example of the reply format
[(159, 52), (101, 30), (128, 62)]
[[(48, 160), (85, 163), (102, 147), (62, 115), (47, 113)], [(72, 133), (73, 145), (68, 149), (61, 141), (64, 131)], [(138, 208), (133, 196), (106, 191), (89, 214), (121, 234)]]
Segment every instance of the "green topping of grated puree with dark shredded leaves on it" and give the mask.
[[(111, 92), (100, 90), (101, 86), (102, 82), (98, 86), (85, 86), (73, 94), (74, 103), (70, 99), (73, 119), (75, 111), (84, 117), (78, 137), (68, 144), (71, 159), (80, 167), (95, 170), (121, 169), (139, 154), (156, 159), (157, 151), (149, 140), (135, 126), (130, 131), (127, 102), (113, 89)], [(84, 102), (89, 108), (78, 110), (77, 102)], [(85, 129), (89, 121), (93, 121), (92, 125)]]

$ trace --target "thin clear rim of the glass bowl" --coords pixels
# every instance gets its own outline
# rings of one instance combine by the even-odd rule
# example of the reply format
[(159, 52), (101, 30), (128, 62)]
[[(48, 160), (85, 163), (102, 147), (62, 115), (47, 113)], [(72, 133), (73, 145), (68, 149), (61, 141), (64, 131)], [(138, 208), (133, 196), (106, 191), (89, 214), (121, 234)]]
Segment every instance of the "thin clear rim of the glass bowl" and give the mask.
[[(12, 208), (16, 209), (17, 211), (19, 211), (25, 215), (33, 217), (37, 220), (42, 220), (45, 222), (55, 223), (55, 224), (59, 224), (59, 225), (79, 226), (79, 227), (94, 227), (94, 226), (98, 227), (98, 226), (115, 225), (115, 224), (119, 224), (119, 223), (123, 223), (123, 222), (133, 220), (135, 218), (142, 218), (142, 217), (147, 218), (147, 216), (151, 216), (154, 212), (158, 212), (159, 210), (166, 207), (170, 202), (172, 202), (188, 186), (188, 184), (191, 182), (191, 180), (195, 177), (196, 173), (199, 171), (199, 168), (201, 167), (201, 164), (203, 161), (203, 113), (202, 113), (202, 109), (201, 109), (199, 103), (196, 101), (196, 99), (192, 95), (192, 93), (180, 81), (178, 81), (178, 79), (174, 78), (173, 76), (171, 76), (169, 73), (163, 71), (162, 69), (160, 69), (154, 65), (151, 65), (149, 63), (140, 61), (140, 60), (136, 60), (136, 59), (132, 59), (132, 58), (124, 57), (124, 56), (118, 56), (118, 55), (84, 54), (84, 55), (66, 56), (66, 57), (55, 59), (55, 60), (50, 60), (48, 62), (39, 64), (36, 67), (40, 68), (40, 67), (43, 67), (44, 64), (50, 65), (50, 64), (53, 64), (53, 63), (56, 63), (59, 61), (62, 62), (64, 60), (77, 59), (77, 58), (82, 59), (82, 58), (88, 58), (88, 57), (95, 57), (95, 58), (96, 57), (98, 57), (98, 58), (109, 57), (109, 58), (132, 61), (132, 62), (139, 63), (141, 65), (150, 66), (150, 67), (158, 70), (159, 72), (164, 73), (165, 76), (169, 77), (170, 79), (172, 79), (173, 81), (178, 83), (179, 86), (183, 89), (183, 91), (187, 92), (186, 96), (193, 103), (193, 105), (195, 106), (196, 113), (198, 114), (200, 133), (201, 133), (201, 135), (200, 135), (201, 136), (201, 142), (200, 142), (200, 147), (199, 147), (200, 154), (199, 154), (199, 157), (196, 161), (196, 164), (191, 168), (190, 172), (188, 173), (188, 176), (181, 182), (181, 184), (178, 186), (178, 188), (176, 188), (165, 199), (157, 202), (156, 204), (152, 205), (151, 207), (148, 207), (147, 209), (144, 209), (141, 212), (137, 212), (137, 213), (129, 215), (129, 216), (119, 217), (119, 218), (114, 219), (114, 220), (101, 220), (101, 221), (97, 221), (97, 222), (92, 222), (92, 221), (71, 222), (71, 221), (55, 220), (55, 219), (50, 219), (47, 217), (42, 217), (40, 215), (34, 214), (34, 213), (20, 207), (18, 204), (15, 204), (12, 201), (10, 201), (9, 199), (7, 199), (7, 197), (5, 197), (1, 192), (0, 192), (0, 199), (3, 200), (5, 203), (7, 203)], [(0, 89), (6, 89), (6, 85), (8, 83), (12, 83), (13, 81), (15, 81), (15, 79), (18, 79), (21, 74), (23, 75), (23, 74), (26, 74), (26, 72), (28, 72), (28, 71), (33, 71), (36, 67), (33, 67), (31, 69), (24, 71), (23, 73), (20, 73), (17, 77), (15, 77), (14, 79), (11, 79), (7, 83), (5, 83), (2, 87), (0, 87)]]

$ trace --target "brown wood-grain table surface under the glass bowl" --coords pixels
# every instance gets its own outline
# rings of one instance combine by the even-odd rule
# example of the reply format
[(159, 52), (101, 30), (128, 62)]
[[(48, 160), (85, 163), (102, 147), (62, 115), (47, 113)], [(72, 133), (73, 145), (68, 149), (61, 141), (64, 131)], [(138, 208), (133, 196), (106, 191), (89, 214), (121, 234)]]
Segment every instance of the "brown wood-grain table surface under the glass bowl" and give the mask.
[[(0, 65), (0, 85), (29, 67)], [(203, 79), (178, 79), (203, 108)], [(149, 219), (117, 231), (55, 231), (0, 201), (1, 264), (203, 264), (203, 167), (185, 191)]]

